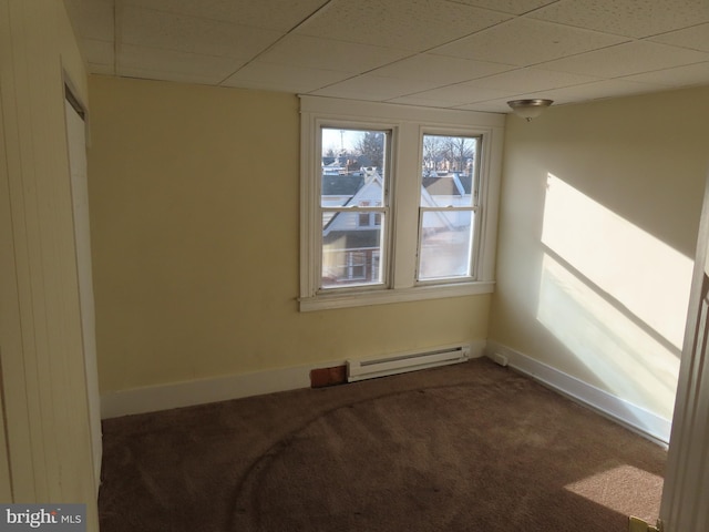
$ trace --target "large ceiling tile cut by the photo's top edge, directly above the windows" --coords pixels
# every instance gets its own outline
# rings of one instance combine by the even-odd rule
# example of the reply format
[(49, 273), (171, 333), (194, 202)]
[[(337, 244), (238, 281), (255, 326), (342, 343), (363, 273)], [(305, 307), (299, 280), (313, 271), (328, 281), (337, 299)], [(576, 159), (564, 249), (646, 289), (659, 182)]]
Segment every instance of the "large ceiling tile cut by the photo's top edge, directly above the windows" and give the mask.
[(296, 32), (422, 52), (508, 18), (445, 0), (332, 0)]

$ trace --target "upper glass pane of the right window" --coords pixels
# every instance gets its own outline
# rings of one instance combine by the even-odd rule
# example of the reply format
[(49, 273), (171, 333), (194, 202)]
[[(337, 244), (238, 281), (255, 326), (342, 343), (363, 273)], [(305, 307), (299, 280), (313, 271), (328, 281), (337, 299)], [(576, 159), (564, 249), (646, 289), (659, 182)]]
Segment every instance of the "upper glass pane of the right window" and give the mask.
[(474, 136), (423, 135), (422, 207), (470, 207), (474, 204)]

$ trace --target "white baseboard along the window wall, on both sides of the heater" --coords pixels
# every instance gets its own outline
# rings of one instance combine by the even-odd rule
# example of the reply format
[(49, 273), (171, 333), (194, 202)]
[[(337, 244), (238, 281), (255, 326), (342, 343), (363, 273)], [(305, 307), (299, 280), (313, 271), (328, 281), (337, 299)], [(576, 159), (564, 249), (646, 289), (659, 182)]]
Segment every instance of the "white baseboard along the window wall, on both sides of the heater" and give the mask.
[[(471, 345), (470, 358), (480, 358), (484, 355), (485, 340), (470, 341), (467, 344)], [(345, 360), (326, 361), (109, 392), (101, 396), (101, 418), (117, 418), (120, 416), (155, 412), (171, 408), (192, 407), (207, 402), (228, 401), (277, 391), (309, 388), (310, 370), (343, 365)]]

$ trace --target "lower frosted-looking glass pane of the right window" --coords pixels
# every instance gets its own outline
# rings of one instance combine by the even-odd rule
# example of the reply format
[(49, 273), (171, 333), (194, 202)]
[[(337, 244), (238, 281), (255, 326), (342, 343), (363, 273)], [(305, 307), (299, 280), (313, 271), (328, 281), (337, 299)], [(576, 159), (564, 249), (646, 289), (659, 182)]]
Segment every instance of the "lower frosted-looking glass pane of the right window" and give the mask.
[(472, 242), (472, 211), (423, 212), (419, 280), (470, 276)]

